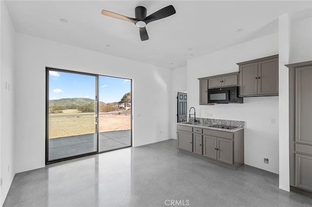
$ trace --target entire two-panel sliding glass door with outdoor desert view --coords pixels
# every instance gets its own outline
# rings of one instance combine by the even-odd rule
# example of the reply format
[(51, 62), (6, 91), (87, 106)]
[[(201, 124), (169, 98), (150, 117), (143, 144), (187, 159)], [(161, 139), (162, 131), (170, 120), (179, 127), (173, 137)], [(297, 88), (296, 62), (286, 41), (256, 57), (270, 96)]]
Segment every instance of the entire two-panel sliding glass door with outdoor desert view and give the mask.
[(130, 79), (47, 69), (46, 163), (132, 146)]

